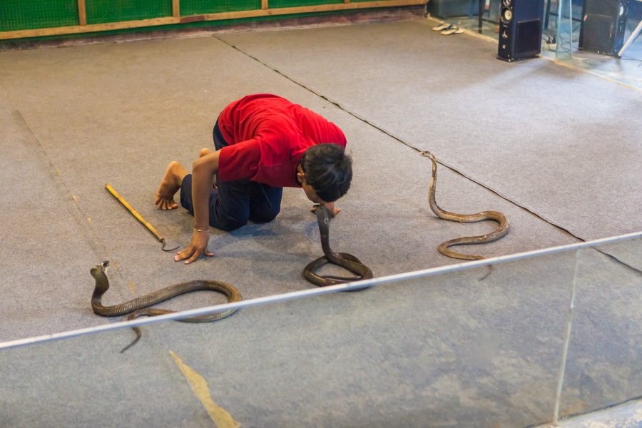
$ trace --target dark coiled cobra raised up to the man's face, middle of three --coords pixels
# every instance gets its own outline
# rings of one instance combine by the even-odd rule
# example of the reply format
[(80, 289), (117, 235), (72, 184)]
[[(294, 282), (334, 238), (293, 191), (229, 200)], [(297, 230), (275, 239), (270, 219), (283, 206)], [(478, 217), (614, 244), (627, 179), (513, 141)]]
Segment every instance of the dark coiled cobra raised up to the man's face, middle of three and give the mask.
[[(330, 248), (330, 211), (322, 205), (317, 206), (317, 223), (319, 225), (319, 233), (321, 235), (321, 248), (323, 256), (308, 263), (303, 269), (303, 277), (312, 282), (312, 284), (319, 287), (327, 285), (342, 284), (344, 282), (352, 282), (358, 280), (367, 280), (373, 277), (372, 270), (367, 267), (361, 260), (352, 254), (348, 253), (334, 253)], [(343, 267), (350, 272), (357, 274), (356, 277), (340, 277), (334, 275), (317, 275), (315, 270), (322, 266), (332, 263)], [(358, 288), (351, 291), (365, 290), (367, 287)]]

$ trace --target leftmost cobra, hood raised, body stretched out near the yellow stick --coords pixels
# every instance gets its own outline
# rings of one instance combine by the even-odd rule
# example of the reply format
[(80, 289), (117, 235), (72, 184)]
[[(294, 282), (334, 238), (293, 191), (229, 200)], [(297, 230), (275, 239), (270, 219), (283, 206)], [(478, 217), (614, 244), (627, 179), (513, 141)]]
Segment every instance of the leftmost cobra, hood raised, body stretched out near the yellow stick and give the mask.
[[(228, 303), (238, 302), (241, 300), (240, 292), (225, 282), (213, 281), (213, 280), (192, 280), (186, 282), (178, 282), (177, 284), (170, 285), (168, 287), (162, 288), (161, 290), (151, 292), (148, 295), (137, 297), (136, 299), (130, 300), (120, 305), (113, 306), (103, 306), (101, 299), (103, 295), (109, 289), (109, 280), (107, 279), (107, 267), (109, 262), (100, 263), (91, 268), (89, 271), (91, 276), (96, 280), (96, 287), (93, 290), (93, 295), (91, 296), (91, 309), (96, 315), (101, 315), (103, 317), (118, 317), (121, 315), (129, 314), (127, 317), (128, 320), (134, 320), (137, 317), (153, 317), (155, 315), (169, 314), (176, 311), (165, 310), (165, 309), (151, 309), (148, 306), (156, 305), (157, 303), (164, 302), (178, 295), (183, 295), (189, 292), (194, 291), (215, 291), (220, 292), (226, 297), (228, 297)], [(236, 309), (225, 310), (222, 312), (215, 312), (209, 315), (198, 315), (195, 317), (183, 318), (181, 322), (212, 322), (221, 320), (225, 317), (229, 317)], [(138, 327), (132, 327), (134, 332), (136, 332), (136, 339), (133, 340), (129, 345), (123, 348), (121, 352), (125, 352), (133, 345), (136, 345), (136, 342), (141, 339), (141, 329)]]

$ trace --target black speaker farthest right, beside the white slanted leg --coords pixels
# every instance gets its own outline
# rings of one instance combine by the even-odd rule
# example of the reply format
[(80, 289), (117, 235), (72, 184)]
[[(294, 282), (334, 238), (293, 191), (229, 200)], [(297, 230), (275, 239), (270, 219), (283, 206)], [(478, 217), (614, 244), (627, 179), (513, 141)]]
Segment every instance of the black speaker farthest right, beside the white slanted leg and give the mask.
[(579, 49), (617, 56), (624, 44), (628, 0), (584, 0)]

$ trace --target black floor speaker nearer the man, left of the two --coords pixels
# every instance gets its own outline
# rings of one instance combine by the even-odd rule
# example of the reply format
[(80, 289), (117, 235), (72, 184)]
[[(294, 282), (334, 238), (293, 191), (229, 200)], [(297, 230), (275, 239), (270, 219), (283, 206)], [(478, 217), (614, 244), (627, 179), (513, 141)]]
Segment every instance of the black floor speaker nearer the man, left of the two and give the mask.
[(544, 0), (501, 0), (497, 58), (517, 61), (541, 52)]

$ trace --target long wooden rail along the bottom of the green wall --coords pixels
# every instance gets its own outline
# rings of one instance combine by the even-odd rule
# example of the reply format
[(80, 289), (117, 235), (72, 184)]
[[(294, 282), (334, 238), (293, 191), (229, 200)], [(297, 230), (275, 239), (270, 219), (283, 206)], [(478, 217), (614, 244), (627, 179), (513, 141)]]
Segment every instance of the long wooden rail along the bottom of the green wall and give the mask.
[[(262, 5), (263, 5), (263, 0)], [(170, 16), (166, 18), (141, 19), (138, 21), (108, 22), (105, 24), (87, 24), (78, 26), (62, 26), (48, 29), (0, 31), (0, 40), (21, 39), (25, 37), (61, 36), (63, 34), (93, 33), (96, 31), (111, 31), (137, 29), (150, 26), (185, 24), (195, 21), (220, 21), (223, 19), (257, 18), (260, 16), (278, 16), (289, 14), (309, 14), (314, 12), (346, 11), (352, 9), (374, 9), (379, 7), (419, 6), (426, 0), (383, 0), (360, 1), (357, 3), (322, 4), (319, 6), (298, 6), (279, 9), (258, 9), (253, 11), (221, 12), (218, 14), (203, 14), (195, 16)]]

